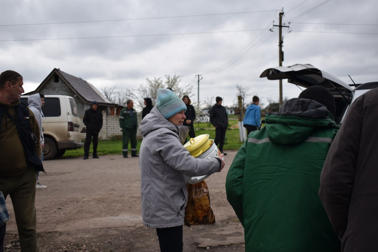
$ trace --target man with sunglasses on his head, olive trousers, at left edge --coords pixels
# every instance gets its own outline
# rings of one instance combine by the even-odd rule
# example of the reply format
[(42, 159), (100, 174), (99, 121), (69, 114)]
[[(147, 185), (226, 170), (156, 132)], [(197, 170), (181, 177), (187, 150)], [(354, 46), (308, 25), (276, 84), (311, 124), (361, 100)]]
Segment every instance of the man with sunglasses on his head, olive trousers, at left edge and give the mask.
[(33, 112), (20, 103), (22, 86), (19, 73), (0, 74), (0, 191), (12, 199), (21, 250), (38, 251), (36, 171), (44, 170), (39, 126)]

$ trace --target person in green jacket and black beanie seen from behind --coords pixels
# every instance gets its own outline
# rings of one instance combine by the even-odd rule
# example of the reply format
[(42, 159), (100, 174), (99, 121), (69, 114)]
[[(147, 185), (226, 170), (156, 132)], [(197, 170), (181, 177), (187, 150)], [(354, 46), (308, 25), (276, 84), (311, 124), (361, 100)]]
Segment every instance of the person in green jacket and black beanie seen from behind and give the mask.
[(244, 227), (245, 251), (335, 252), (340, 241), (318, 197), (320, 173), (339, 126), (335, 99), (305, 89), (267, 114), (237, 152), (227, 200)]

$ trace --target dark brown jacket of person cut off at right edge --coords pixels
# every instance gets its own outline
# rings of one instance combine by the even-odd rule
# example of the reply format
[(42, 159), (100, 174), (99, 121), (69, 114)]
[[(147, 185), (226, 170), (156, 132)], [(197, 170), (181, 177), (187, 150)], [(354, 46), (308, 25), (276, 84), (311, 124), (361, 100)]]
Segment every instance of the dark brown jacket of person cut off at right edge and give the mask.
[(377, 251), (378, 89), (356, 99), (320, 177), (321, 198), (341, 251)]

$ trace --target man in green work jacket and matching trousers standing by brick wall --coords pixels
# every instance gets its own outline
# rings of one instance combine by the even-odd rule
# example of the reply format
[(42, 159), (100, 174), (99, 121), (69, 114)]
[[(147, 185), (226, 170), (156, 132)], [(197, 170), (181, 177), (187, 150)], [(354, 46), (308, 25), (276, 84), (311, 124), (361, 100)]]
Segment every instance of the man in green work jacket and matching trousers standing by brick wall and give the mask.
[(138, 155), (136, 155), (136, 129), (138, 128), (138, 118), (133, 107), (133, 101), (127, 100), (126, 107), (122, 109), (119, 114), (119, 126), (122, 128), (122, 155), (125, 158), (128, 157), (129, 139), (131, 141), (131, 156), (138, 157)]

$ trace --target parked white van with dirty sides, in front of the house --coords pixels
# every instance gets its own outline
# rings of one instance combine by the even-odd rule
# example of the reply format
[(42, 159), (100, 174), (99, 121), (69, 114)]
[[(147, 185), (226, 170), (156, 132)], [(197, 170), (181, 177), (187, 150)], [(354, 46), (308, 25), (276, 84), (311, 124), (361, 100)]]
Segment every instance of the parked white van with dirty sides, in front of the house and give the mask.
[[(29, 95), (20, 100), (28, 105)], [(61, 157), (67, 149), (82, 148), (80, 118), (74, 98), (67, 95), (45, 95), (42, 108), (42, 127), (45, 137), (43, 159)]]

